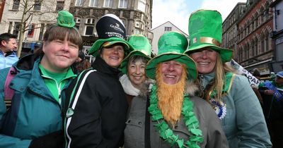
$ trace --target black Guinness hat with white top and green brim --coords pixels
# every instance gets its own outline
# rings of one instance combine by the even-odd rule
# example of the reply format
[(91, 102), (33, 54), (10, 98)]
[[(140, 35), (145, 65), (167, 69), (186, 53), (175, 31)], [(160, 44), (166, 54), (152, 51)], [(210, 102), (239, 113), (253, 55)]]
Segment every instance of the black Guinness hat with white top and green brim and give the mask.
[(96, 31), (98, 32), (98, 40), (88, 51), (88, 54), (98, 56), (98, 51), (102, 47), (110, 47), (113, 44), (120, 43), (124, 47), (125, 56), (132, 51), (126, 39), (126, 29), (122, 20), (114, 14), (106, 14), (102, 16), (96, 23)]

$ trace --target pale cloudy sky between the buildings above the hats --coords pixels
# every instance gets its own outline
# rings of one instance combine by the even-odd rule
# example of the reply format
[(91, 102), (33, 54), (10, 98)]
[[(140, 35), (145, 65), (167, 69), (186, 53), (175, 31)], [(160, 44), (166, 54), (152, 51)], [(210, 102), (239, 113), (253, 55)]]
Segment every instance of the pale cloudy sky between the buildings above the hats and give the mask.
[(152, 11), (152, 28), (170, 21), (187, 33), (190, 13), (198, 9), (219, 11), (224, 20), (238, 2), (247, 0), (154, 0)]

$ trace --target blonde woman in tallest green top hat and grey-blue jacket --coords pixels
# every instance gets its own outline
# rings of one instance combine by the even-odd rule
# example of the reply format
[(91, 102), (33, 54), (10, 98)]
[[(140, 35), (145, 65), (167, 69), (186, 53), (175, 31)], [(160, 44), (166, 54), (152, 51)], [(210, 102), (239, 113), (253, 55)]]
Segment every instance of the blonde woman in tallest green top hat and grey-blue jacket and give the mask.
[(233, 51), (220, 47), (221, 14), (211, 10), (192, 13), (189, 35), (185, 54), (197, 63), (199, 95), (221, 120), (229, 147), (271, 147), (260, 103), (247, 78), (233, 73), (225, 63), (231, 60)]

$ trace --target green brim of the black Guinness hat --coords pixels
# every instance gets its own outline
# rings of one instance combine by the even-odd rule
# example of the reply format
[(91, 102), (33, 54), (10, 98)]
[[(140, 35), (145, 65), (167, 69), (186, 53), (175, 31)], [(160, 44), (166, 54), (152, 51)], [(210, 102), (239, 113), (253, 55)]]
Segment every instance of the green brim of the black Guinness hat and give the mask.
[(88, 54), (95, 56), (95, 57), (98, 56), (98, 51), (100, 47), (103, 45), (103, 43), (105, 42), (111, 42), (111, 44), (109, 44), (108, 47), (111, 46), (112, 44), (117, 44), (117, 43), (123, 44), (125, 56), (127, 56), (127, 54), (129, 54), (129, 52), (133, 50), (132, 46), (124, 39), (121, 39), (119, 37), (110, 37), (108, 39), (96, 40), (96, 42), (93, 43), (93, 46), (91, 47), (91, 49), (88, 51)]

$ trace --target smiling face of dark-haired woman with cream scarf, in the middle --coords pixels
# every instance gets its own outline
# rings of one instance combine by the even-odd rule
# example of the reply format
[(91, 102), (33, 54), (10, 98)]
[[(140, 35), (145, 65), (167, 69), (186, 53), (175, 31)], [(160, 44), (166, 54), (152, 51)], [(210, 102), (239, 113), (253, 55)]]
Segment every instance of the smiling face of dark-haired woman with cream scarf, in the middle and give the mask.
[(137, 89), (146, 80), (145, 74), (146, 63), (142, 60), (132, 61), (128, 65), (128, 77), (132, 85)]

